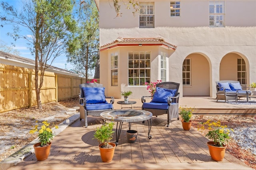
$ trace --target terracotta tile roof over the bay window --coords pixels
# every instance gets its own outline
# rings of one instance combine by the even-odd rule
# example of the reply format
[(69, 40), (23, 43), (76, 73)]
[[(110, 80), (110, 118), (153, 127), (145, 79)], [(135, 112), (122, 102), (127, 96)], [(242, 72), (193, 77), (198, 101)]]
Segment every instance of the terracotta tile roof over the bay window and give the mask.
[(107, 43), (105, 45), (100, 46), (100, 51), (110, 49), (117, 46), (164, 46), (168, 49), (175, 50), (177, 48), (176, 45), (172, 45), (164, 41), (164, 38), (157, 37), (157, 38), (122, 38), (118, 37), (115, 41)]

